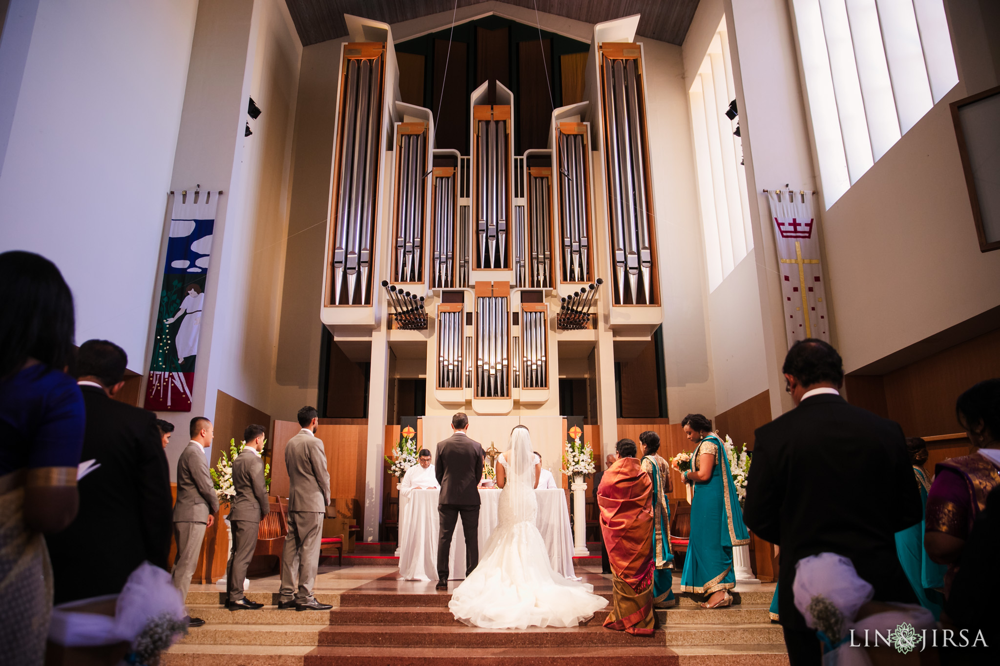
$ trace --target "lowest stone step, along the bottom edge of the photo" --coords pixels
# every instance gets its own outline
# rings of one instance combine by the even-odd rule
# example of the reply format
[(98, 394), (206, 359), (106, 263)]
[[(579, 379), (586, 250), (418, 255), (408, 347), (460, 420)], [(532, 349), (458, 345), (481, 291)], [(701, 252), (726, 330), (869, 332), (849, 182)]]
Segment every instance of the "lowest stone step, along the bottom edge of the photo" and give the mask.
[[(650, 642), (651, 639), (646, 639)], [(165, 653), (162, 666), (788, 666), (781, 643), (611, 647), (371, 648), (181, 643)]]

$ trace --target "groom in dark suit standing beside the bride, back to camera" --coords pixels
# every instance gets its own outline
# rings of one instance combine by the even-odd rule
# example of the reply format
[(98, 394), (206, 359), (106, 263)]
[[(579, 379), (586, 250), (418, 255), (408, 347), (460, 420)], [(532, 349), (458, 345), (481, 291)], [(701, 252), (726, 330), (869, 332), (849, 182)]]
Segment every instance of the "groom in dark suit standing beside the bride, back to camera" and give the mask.
[(483, 474), (483, 447), (465, 431), (469, 417), (459, 411), (451, 417), (452, 435), (438, 442), (434, 475), (441, 486), (438, 514), (441, 536), (438, 540), (438, 584), (448, 589), (448, 555), (455, 522), (462, 516), (465, 532), (465, 575), (479, 563), (479, 477)]

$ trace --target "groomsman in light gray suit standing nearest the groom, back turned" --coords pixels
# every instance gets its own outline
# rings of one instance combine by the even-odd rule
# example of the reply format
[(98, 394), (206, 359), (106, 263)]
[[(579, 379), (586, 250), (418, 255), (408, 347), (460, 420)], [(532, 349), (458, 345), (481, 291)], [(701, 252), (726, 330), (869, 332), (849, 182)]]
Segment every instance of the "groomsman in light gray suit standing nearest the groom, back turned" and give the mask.
[(316, 408), (302, 407), (298, 417), (302, 429), (285, 447), (288, 536), (281, 557), (278, 608), (330, 610), (333, 606), (316, 601), (312, 593), (319, 566), (323, 516), (330, 504), (330, 473), (326, 469), (323, 441), (316, 436), (319, 426)]

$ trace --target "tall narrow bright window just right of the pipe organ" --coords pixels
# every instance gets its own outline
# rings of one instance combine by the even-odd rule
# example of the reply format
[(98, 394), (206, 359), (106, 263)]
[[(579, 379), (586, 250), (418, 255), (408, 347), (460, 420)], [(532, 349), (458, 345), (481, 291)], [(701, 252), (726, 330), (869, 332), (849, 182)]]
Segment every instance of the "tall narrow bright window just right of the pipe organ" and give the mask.
[(743, 146), (726, 21), (712, 38), (688, 91), (710, 290), (753, 249)]

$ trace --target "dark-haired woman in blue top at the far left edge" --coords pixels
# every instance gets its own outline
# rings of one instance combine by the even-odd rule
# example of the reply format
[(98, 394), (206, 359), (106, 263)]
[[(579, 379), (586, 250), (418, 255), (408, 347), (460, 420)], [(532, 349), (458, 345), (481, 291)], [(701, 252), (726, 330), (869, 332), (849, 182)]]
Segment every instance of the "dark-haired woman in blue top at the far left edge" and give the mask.
[(83, 395), (65, 372), (73, 351), (73, 296), (52, 262), (0, 254), (0, 654), (45, 658), (52, 570), (44, 533), (76, 517)]

